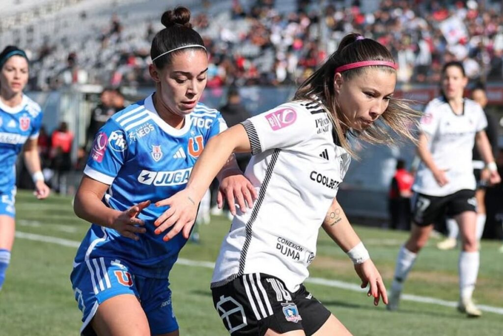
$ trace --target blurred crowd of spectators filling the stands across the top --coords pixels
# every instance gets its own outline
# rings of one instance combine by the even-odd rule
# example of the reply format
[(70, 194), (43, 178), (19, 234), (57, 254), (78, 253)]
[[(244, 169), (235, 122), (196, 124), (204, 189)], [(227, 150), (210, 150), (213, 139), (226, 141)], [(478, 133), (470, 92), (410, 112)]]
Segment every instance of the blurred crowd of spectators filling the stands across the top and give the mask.
[[(347, 3), (347, 2), (346, 2)], [(388, 47), (399, 64), (402, 83), (438, 83), (441, 64), (463, 62), (470, 80), (500, 80), (503, 73), (503, 18), (494, 7), (469, 1), (383, 0), (364, 13), (354, 1), (298, 0), (296, 11), (281, 13), (275, 0), (256, 0), (249, 8), (235, 0), (227, 11), (203, 2), (194, 17), (210, 51), (208, 87), (288, 85), (301, 82), (348, 32), (358, 32)], [(149, 85), (149, 41), (157, 28), (152, 18), (134, 25), (113, 15), (79, 24), (93, 31), (82, 48), (47, 36), (33, 46), (31, 88), (57, 89), (71, 83), (105, 86)], [(327, 43), (322, 41), (328, 41)]]

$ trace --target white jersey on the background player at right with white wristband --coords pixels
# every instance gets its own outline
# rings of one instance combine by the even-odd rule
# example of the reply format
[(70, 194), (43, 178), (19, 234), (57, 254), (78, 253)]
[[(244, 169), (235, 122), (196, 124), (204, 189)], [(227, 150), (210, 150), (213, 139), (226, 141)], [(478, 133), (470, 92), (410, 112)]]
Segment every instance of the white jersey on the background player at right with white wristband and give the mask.
[(449, 183), (439, 186), (433, 173), (421, 162), (412, 190), (430, 196), (446, 196), (462, 189), (475, 189), (472, 148), (475, 134), (487, 127), (484, 111), (475, 101), (465, 99), (457, 115), (443, 98), (432, 100), (421, 118), (421, 130), (428, 135), (429, 149), (438, 168), (446, 170)]

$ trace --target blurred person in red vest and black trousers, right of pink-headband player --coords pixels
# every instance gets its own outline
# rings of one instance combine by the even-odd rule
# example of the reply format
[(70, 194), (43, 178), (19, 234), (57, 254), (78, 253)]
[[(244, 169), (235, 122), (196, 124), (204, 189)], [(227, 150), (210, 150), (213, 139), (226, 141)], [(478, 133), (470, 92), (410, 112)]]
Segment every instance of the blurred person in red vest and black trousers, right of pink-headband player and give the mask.
[(413, 182), (414, 177), (405, 169), (405, 161), (398, 159), (388, 196), (390, 228), (393, 230), (410, 228), (410, 196), (412, 196)]

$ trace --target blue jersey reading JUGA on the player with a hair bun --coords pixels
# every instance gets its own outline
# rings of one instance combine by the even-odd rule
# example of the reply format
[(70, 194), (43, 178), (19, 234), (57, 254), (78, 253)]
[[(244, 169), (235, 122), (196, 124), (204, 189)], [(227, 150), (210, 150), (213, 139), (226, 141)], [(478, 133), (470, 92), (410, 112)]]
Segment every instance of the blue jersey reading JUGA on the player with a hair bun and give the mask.
[(92, 224), (75, 263), (114, 257), (137, 275), (165, 279), (187, 240), (179, 234), (164, 242), (165, 232), (154, 234), (153, 222), (168, 209), (154, 203), (185, 188), (204, 145), (226, 128), (220, 113), (201, 103), (181, 129), (173, 128), (157, 114), (152, 96), (114, 114), (96, 135), (84, 173), (110, 185), (103, 199), (110, 208), (125, 211), (150, 200), (138, 216), (145, 221), (146, 233), (135, 241)]

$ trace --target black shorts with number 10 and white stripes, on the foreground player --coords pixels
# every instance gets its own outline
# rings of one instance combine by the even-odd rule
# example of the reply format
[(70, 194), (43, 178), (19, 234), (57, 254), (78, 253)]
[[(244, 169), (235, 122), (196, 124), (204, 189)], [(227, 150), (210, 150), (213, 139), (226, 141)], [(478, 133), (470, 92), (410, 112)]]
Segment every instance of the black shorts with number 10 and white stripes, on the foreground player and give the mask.
[(292, 293), (280, 279), (263, 273), (245, 274), (211, 290), (213, 306), (232, 336), (263, 336), (269, 328), (304, 330), (309, 336), (331, 314), (304, 285)]

